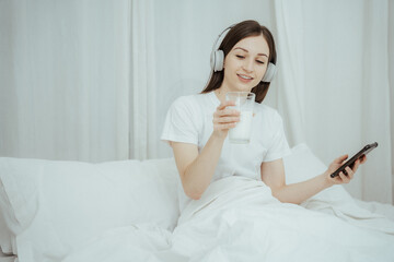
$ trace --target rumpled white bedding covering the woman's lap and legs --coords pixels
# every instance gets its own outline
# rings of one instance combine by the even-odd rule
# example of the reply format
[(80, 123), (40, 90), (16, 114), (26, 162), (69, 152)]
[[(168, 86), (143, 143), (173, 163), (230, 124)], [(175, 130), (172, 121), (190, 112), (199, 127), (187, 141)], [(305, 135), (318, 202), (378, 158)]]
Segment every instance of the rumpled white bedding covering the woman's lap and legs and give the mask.
[(229, 177), (190, 202), (173, 233), (112, 229), (63, 262), (394, 261), (393, 221), (324, 193), (303, 205), (280, 203), (262, 181)]

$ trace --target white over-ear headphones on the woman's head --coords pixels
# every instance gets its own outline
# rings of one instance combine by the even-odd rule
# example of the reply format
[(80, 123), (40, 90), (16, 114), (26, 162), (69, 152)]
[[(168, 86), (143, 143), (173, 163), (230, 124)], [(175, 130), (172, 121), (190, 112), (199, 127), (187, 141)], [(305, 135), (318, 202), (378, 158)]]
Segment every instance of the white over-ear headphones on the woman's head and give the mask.
[[(210, 57), (210, 64), (211, 64), (211, 69), (213, 70), (213, 72), (223, 70), (224, 52), (223, 52), (223, 50), (218, 49), (220, 47), (220, 44), (218, 45), (218, 43), (221, 43), (223, 40), (225, 35), (229, 33), (229, 31), (233, 26), (234, 25), (230, 25), (229, 27), (223, 29), (213, 44), (213, 48), (212, 48), (212, 52), (211, 52), (211, 57)], [(223, 36), (223, 37), (219, 41), (221, 36)], [(262, 82), (271, 82), (275, 76), (276, 71), (277, 71), (276, 66), (274, 63), (269, 62), (268, 67), (267, 67), (267, 71), (265, 72)]]

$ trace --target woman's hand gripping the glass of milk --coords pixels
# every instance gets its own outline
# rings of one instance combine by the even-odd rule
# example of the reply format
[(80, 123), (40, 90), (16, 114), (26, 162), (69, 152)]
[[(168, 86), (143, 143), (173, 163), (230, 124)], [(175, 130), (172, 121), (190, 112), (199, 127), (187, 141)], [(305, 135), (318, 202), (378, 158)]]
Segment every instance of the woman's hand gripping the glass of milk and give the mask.
[(213, 112), (213, 134), (221, 139), (225, 139), (229, 129), (234, 128), (240, 121), (240, 111), (228, 108), (229, 106), (235, 106), (235, 102), (225, 100)]

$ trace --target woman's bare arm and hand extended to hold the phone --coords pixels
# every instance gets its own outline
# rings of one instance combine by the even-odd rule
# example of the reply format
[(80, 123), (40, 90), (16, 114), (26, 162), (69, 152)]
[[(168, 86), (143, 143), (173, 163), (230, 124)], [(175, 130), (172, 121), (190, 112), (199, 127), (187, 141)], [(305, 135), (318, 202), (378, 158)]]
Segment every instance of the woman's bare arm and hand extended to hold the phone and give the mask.
[(303, 182), (286, 184), (285, 167), (282, 159), (274, 162), (266, 162), (262, 164), (262, 180), (270, 187), (273, 195), (280, 202), (300, 204), (306, 199), (315, 195), (322, 190), (332, 187), (333, 184), (348, 183), (360, 164), (367, 160), (363, 157), (355, 163), (352, 169), (346, 168), (348, 176), (340, 172), (338, 177), (332, 178), (329, 175), (334, 172), (347, 158), (347, 155), (336, 158), (328, 167), (328, 169), (320, 176), (311, 178)]

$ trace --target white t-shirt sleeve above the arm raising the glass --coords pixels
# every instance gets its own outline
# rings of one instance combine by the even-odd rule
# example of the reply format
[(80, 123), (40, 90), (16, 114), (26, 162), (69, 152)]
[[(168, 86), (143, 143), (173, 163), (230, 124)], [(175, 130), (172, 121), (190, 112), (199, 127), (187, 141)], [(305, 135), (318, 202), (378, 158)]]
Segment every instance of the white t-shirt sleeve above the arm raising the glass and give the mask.
[(198, 116), (193, 114), (193, 102), (177, 98), (170, 107), (164, 121), (161, 140), (198, 145)]

